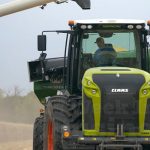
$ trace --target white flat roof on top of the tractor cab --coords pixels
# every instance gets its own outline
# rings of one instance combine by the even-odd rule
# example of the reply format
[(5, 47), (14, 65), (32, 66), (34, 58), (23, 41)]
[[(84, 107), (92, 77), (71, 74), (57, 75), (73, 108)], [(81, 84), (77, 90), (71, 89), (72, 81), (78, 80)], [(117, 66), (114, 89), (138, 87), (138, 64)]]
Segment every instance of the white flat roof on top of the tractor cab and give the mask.
[(90, 20), (75, 20), (75, 24), (145, 24), (145, 20), (135, 20), (135, 19), (90, 19)]

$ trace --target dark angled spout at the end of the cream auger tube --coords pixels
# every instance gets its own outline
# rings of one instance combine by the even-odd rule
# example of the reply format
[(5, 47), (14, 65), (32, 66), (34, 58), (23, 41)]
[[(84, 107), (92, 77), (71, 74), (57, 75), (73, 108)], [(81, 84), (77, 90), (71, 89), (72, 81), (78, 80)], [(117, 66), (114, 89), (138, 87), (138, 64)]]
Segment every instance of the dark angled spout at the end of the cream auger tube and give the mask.
[(75, 1), (82, 9), (90, 9), (91, 1), (90, 0), (73, 0)]

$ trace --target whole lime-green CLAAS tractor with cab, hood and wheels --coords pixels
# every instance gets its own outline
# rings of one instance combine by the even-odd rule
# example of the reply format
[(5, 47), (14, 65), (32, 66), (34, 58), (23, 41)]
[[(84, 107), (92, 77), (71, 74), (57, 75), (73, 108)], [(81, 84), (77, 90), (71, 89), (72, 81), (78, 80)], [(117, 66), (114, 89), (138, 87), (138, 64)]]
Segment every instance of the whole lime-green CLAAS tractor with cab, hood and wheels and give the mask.
[[(150, 26), (150, 22), (147, 23)], [(28, 62), (45, 110), (34, 150), (149, 150), (149, 29), (143, 20), (76, 20), (43, 31)], [(46, 58), (46, 34), (66, 34), (64, 57)], [(98, 40), (103, 47), (97, 47)]]

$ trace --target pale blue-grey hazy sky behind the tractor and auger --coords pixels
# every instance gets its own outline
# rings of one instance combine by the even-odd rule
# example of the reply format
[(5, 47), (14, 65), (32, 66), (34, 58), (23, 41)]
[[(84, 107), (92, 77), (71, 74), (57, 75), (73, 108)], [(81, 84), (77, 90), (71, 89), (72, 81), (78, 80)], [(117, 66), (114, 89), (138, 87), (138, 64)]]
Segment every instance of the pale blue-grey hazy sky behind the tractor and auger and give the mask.
[[(0, 4), (11, 0), (1, 0)], [(39, 7), (0, 17), (0, 89), (15, 86), (24, 92), (32, 90), (27, 62), (39, 57), (37, 35), (43, 30), (69, 29), (68, 20), (76, 19), (150, 19), (150, 0), (91, 0), (91, 10), (82, 10), (75, 2)], [(49, 57), (63, 54), (58, 37), (50, 37)], [(55, 48), (56, 46), (56, 48)]]

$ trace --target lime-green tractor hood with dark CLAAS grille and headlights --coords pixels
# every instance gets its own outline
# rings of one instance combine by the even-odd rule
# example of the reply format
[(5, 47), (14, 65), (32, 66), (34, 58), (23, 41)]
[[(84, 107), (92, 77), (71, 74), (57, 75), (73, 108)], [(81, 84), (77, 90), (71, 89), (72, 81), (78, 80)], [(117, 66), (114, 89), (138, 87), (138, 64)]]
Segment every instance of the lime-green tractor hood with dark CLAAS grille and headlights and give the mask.
[(88, 69), (82, 80), (85, 136), (150, 136), (150, 74), (126, 67)]

